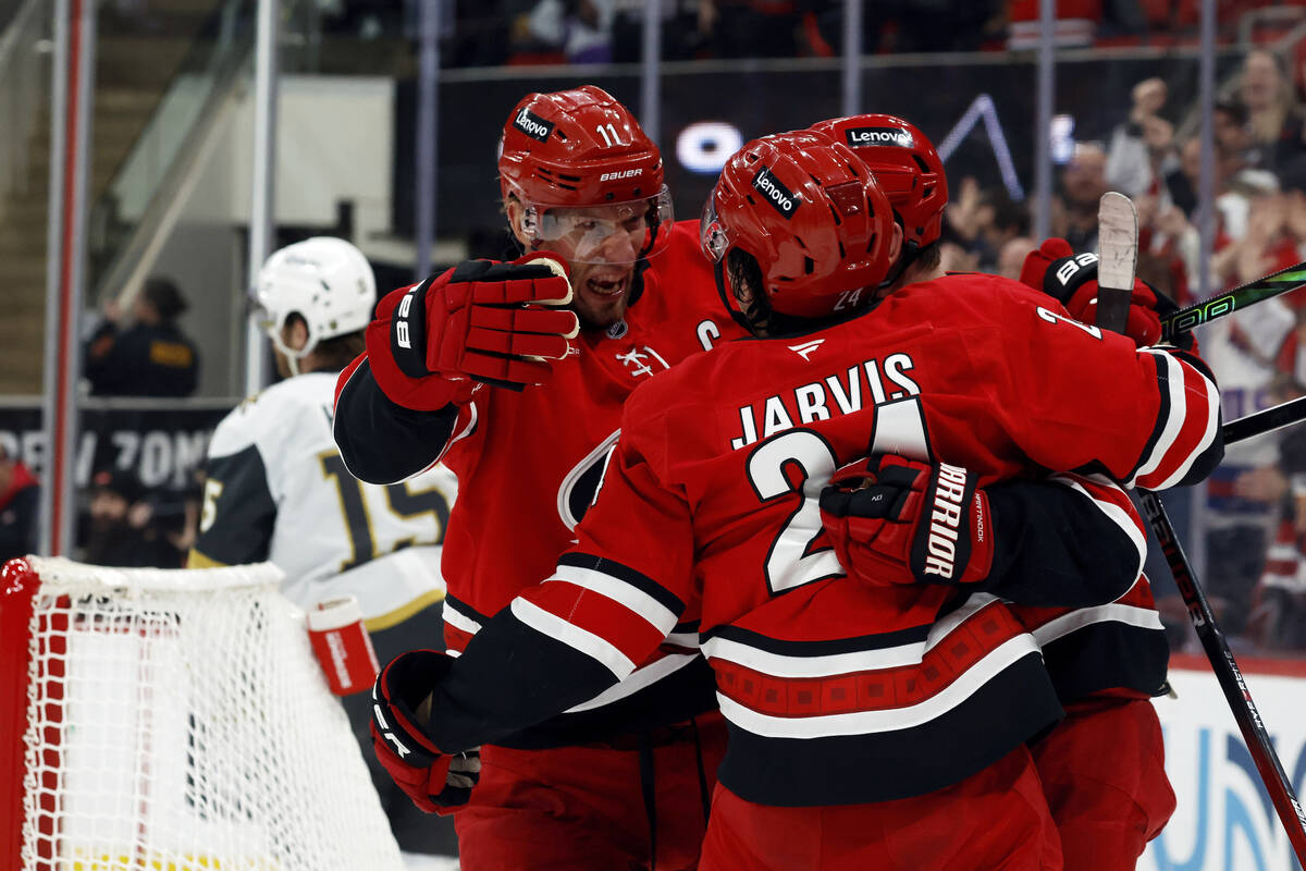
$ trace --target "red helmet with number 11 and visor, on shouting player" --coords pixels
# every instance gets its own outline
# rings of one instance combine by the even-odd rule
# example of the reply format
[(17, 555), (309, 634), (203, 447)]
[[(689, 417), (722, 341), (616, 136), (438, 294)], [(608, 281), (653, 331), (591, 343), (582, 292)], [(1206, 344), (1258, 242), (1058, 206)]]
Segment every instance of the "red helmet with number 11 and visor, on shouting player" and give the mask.
[(580, 261), (603, 260), (606, 240), (623, 232), (646, 256), (657, 227), (674, 219), (657, 145), (594, 85), (517, 103), (503, 128), (499, 182), (504, 198), (521, 201), (538, 247), (569, 238)]

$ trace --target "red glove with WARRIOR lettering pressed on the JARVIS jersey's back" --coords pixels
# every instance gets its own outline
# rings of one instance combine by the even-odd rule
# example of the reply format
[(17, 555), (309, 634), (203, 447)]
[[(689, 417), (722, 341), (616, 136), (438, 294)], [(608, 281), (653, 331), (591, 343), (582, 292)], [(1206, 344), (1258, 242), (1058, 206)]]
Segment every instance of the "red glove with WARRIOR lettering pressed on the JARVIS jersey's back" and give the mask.
[(993, 567), (989, 498), (965, 469), (876, 454), (820, 495), (838, 562), (867, 584), (982, 581)]

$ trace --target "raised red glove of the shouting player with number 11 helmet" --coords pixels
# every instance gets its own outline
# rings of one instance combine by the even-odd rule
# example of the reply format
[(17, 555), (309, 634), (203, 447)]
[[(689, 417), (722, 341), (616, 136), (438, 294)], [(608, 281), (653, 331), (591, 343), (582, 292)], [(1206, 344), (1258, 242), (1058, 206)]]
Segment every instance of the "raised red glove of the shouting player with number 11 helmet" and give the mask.
[(390, 316), (396, 366), (410, 379), (471, 377), (516, 390), (542, 383), (549, 360), (567, 356), (567, 340), (580, 330), (564, 308), (571, 285), (554, 266), (541, 255), (468, 260), (411, 287)]

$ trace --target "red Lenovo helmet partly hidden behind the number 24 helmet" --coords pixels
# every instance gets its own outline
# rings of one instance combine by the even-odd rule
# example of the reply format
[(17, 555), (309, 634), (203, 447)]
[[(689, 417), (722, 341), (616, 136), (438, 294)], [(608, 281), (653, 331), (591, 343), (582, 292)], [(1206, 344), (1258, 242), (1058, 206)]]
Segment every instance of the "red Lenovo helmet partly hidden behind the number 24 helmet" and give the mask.
[(917, 249), (943, 232), (948, 178), (934, 144), (916, 125), (893, 115), (850, 115), (811, 129), (857, 150), (902, 218), (902, 239)]

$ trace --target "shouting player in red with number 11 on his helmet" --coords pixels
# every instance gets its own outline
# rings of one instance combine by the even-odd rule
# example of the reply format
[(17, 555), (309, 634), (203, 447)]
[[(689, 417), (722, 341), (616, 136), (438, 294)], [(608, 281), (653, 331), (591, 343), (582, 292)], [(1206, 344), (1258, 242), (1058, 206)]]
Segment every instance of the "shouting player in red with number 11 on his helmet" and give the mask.
[[(522, 99), (499, 171), (528, 261), (465, 262), (388, 295), (337, 393), (336, 439), (357, 477), (400, 481), (440, 457), (457, 474), (451, 652), (572, 543), (631, 390), (742, 334), (697, 222), (670, 223), (657, 146), (602, 90)], [(558, 307), (568, 282), (529, 261), (539, 252), (565, 262), (569, 309)], [(611, 692), (483, 750), (454, 816), (465, 871), (693, 867), (725, 744), (695, 629)]]

